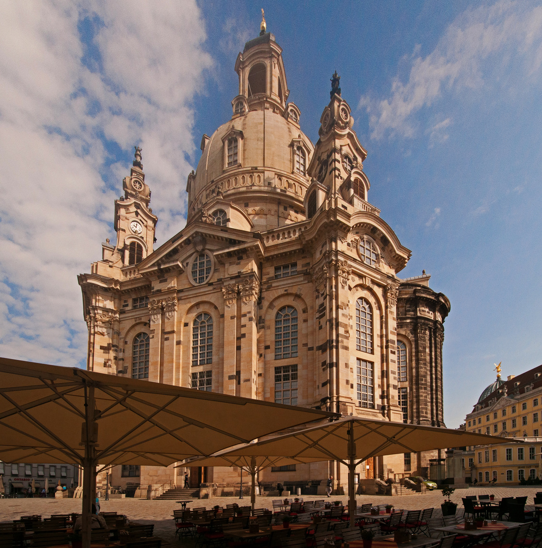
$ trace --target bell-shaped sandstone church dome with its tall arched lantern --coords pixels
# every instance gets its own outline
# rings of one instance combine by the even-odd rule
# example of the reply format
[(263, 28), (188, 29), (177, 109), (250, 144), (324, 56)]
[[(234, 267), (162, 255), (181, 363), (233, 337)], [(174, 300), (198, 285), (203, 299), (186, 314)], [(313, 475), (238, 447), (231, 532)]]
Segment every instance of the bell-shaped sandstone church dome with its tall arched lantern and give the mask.
[(224, 203), (242, 210), (255, 231), (306, 219), (314, 146), (301, 131), (300, 110), (286, 102), (290, 92), (281, 53), (274, 35), (262, 28), (238, 55), (232, 118), (211, 137), (203, 136), (196, 172), (188, 176), (188, 221), (212, 215)]

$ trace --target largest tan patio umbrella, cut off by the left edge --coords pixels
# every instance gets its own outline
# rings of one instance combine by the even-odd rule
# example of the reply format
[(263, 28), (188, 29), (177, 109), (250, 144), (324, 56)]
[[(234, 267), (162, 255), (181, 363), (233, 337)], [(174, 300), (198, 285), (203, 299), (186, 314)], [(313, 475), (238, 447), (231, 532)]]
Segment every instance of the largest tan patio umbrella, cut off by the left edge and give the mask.
[(314, 409), (0, 358), (0, 459), (82, 466), (87, 548), (98, 464), (167, 466), (330, 416)]

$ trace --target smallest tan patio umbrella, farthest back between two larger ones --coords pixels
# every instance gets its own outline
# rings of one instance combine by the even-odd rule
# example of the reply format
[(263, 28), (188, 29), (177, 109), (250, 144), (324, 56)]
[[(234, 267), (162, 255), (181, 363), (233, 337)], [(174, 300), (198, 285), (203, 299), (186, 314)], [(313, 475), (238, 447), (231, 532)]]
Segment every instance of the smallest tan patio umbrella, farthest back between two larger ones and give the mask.
[[(250, 443), (249, 446), (254, 445)], [(245, 448), (245, 445), (239, 446)], [(307, 464), (315, 463), (321, 458), (295, 458), (285, 456), (268, 456), (268, 455), (238, 455), (237, 448), (229, 448), (219, 451), (208, 457), (187, 459), (179, 464), (180, 466), (238, 466), (241, 470), (246, 471), (251, 477), (250, 503), (252, 510), (256, 506), (256, 475), (260, 470), (269, 466), (285, 466), (289, 464)]]

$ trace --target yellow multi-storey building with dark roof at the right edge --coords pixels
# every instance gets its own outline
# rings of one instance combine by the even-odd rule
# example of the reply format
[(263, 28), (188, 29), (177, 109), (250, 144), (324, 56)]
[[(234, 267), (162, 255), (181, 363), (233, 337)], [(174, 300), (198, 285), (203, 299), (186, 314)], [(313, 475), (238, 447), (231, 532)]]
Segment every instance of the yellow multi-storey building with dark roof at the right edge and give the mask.
[(465, 428), (520, 442), (468, 448), (462, 456), (465, 477), (497, 484), (542, 478), (542, 366), (506, 381), (498, 373), (466, 416)]

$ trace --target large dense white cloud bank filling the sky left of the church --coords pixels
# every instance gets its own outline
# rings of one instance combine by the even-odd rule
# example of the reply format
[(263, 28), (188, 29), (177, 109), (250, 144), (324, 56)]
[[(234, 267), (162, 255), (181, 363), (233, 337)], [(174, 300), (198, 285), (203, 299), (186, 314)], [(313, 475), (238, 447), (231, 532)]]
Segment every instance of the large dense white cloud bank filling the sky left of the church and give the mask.
[[(143, 147), (160, 233), (180, 229), (190, 105), (212, 60), (189, 0), (2, 7), (0, 355), (73, 366), (86, 358), (76, 275), (112, 236), (129, 172), (109, 167), (111, 141)], [(80, 29), (89, 20), (94, 58), (85, 62)]]

